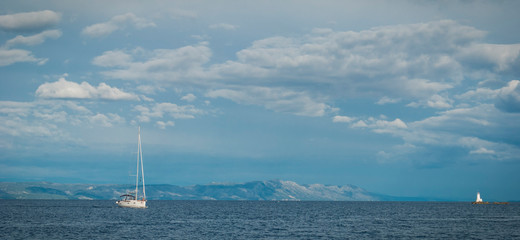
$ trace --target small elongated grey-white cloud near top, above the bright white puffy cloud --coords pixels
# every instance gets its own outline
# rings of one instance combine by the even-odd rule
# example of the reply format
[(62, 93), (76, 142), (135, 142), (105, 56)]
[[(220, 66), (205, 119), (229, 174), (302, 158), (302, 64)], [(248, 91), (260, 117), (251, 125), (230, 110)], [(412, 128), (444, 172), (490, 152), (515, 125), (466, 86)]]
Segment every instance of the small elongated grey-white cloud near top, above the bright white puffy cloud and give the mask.
[(136, 29), (143, 29), (147, 27), (155, 27), (155, 23), (145, 18), (139, 18), (133, 13), (126, 13), (117, 15), (108, 22), (97, 23), (85, 27), (81, 33), (89, 37), (104, 37), (111, 33), (123, 29), (126, 26), (132, 26)]

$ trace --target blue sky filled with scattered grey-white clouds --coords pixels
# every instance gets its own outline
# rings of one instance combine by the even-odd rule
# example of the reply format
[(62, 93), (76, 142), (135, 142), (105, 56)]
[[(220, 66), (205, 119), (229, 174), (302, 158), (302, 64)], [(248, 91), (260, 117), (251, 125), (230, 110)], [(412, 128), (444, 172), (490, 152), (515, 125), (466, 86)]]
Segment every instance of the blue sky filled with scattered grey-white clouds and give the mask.
[(2, 1), (0, 181), (520, 200), (519, 1)]

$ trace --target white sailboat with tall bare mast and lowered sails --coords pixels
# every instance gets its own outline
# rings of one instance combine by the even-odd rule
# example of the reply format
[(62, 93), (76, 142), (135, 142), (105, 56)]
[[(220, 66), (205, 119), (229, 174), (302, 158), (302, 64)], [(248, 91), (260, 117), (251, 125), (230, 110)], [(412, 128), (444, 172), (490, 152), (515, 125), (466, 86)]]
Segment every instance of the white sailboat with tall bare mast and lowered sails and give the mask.
[[(139, 195), (139, 170), (141, 170), (142, 195)], [(141, 199), (139, 197), (141, 196)], [(135, 176), (135, 191), (121, 195), (121, 200), (116, 201), (120, 207), (146, 208), (146, 189), (144, 185), (143, 151), (141, 149), (141, 127), (137, 134), (137, 173)]]

